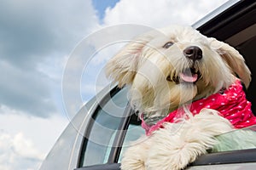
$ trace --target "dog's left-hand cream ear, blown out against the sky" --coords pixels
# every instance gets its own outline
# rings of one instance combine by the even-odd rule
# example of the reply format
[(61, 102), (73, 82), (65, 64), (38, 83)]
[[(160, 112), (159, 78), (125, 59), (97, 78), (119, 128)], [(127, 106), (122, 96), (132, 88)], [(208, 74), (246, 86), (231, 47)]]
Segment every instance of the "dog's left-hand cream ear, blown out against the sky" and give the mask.
[(131, 84), (138, 65), (142, 60), (142, 50), (152, 39), (151, 36), (143, 35), (129, 42), (118, 54), (114, 55), (106, 65), (106, 75), (119, 83), (119, 87)]

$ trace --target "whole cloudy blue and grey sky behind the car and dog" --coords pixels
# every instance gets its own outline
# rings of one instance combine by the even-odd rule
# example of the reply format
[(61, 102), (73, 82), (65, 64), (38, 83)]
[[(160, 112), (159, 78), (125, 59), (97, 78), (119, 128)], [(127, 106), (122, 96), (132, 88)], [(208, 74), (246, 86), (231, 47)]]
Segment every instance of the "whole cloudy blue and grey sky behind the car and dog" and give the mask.
[[(1, 0), (0, 169), (38, 169), (69, 120), (108, 83), (103, 66), (120, 40), (148, 27), (192, 25), (224, 2)], [(108, 36), (116, 28), (122, 36)]]

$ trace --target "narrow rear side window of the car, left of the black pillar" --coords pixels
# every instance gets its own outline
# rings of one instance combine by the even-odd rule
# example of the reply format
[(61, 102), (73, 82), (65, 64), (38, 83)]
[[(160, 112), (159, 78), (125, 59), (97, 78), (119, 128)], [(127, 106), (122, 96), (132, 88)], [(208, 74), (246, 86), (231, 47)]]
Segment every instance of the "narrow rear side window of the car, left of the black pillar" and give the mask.
[(128, 104), (126, 94), (127, 88), (123, 88), (117, 94), (102, 99), (91, 117), (90, 133), (85, 134), (89, 138), (85, 136), (79, 167), (108, 162), (115, 134)]

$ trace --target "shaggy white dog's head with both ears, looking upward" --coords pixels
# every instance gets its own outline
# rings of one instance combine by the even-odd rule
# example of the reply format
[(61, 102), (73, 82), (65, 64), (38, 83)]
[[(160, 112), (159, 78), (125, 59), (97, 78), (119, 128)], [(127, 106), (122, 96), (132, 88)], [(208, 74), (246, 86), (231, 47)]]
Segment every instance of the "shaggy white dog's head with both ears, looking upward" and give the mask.
[(131, 103), (141, 111), (176, 109), (228, 88), (236, 77), (251, 80), (235, 48), (189, 26), (150, 31), (128, 43), (107, 64), (119, 87), (131, 84)]

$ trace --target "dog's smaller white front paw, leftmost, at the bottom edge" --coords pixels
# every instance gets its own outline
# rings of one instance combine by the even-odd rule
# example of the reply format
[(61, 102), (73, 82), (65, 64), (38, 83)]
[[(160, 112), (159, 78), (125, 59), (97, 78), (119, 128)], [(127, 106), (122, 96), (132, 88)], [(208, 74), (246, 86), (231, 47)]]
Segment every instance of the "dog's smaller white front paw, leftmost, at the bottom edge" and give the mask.
[(122, 170), (145, 170), (145, 161), (148, 156), (148, 149), (151, 145), (151, 138), (143, 136), (137, 141), (131, 143), (131, 146), (125, 150), (121, 161)]

